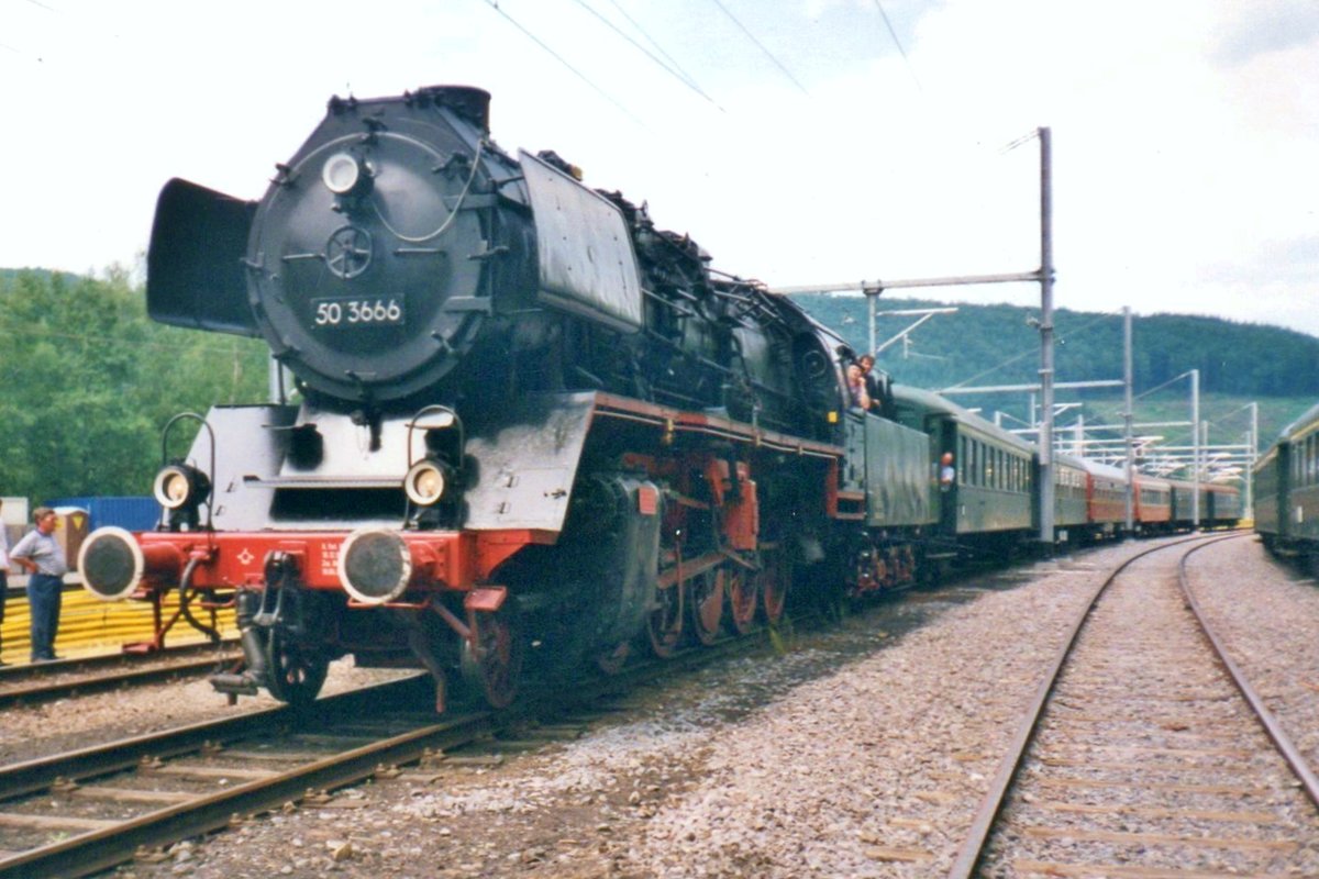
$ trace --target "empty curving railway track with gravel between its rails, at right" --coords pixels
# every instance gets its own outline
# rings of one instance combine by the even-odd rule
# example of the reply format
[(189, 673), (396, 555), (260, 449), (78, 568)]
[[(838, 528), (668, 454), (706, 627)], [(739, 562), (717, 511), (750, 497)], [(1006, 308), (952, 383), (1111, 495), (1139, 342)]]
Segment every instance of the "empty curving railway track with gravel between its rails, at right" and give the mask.
[[(1223, 539), (1148, 550), (1100, 586), (950, 878), (1302, 875), (1319, 783), (1187, 581), (1186, 559)], [(1175, 572), (1129, 572), (1170, 546)]]

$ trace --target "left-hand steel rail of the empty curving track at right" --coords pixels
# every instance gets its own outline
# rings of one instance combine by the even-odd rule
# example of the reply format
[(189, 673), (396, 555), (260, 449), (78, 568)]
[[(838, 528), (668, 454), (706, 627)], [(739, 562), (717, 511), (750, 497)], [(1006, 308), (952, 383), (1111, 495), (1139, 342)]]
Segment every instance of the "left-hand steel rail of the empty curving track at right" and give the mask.
[[(1008, 788), (1012, 787), (1012, 780), (1017, 775), (1017, 770), (1021, 767), (1022, 759), (1026, 756), (1026, 749), (1035, 737), (1039, 721), (1043, 718), (1045, 705), (1049, 702), (1049, 696), (1053, 693), (1054, 685), (1058, 683), (1058, 676), (1062, 672), (1063, 664), (1067, 662), (1072, 648), (1076, 646), (1076, 640), (1080, 635), (1080, 630), (1086, 625), (1086, 621), (1095, 610), (1099, 600), (1108, 590), (1108, 586), (1117, 580), (1119, 575), (1140, 559), (1184, 543), (1206, 540), (1207, 536), (1208, 535), (1195, 535), (1182, 538), (1179, 540), (1173, 540), (1157, 547), (1149, 547), (1148, 550), (1137, 552), (1115, 568), (1113, 572), (1108, 575), (1108, 579), (1105, 579), (1104, 582), (1095, 590), (1095, 594), (1091, 596), (1089, 601), (1086, 602), (1086, 606), (1076, 615), (1076, 621), (1072, 623), (1067, 639), (1054, 655), (1049, 672), (1045, 675), (1039, 688), (1035, 691), (1035, 697), (1031, 700), (1030, 708), (1028, 709), (1021, 726), (1017, 727), (1017, 731), (1012, 737), (1008, 752), (1004, 756), (1002, 763), (998, 764), (998, 771), (995, 774), (993, 780), (989, 783), (989, 792), (985, 795), (984, 800), (981, 800), (980, 808), (976, 810), (976, 817), (971, 822), (971, 829), (967, 832), (966, 841), (958, 850), (958, 857), (952, 862), (952, 867), (948, 868), (948, 879), (971, 879), (975, 872), (976, 865), (980, 862), (985, 841), (989, 838), (989, 829), (998, 817), (998, 812), (1002, 809), (1004, 797), (1008, 795)], [(1217, 540), (1225, 540), (1235, 536), (1240, 535), (1232, 534), (1225, 538), (1208, 538), (1206, 542), (1216, 543)]]

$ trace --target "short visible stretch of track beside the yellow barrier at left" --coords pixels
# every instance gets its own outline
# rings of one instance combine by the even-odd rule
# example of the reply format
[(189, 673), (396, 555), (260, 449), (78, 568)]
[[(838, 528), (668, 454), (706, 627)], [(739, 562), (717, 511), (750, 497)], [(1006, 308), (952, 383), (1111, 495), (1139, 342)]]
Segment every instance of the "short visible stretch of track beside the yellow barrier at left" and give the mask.
[(158, 684), (215, 671), (241, 659), (233, 642), (174, 647), (150, 656), (106, 654), (0, 668), (0, 709)]

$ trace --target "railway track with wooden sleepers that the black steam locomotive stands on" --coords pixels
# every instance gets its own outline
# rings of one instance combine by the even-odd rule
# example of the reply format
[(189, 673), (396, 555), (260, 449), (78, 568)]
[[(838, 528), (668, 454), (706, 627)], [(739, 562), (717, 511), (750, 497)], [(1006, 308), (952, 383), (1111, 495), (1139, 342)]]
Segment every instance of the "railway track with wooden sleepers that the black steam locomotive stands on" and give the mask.
[[(0, 879), (82, 876), (422, 760), (491, 763), (580, 733), (600, 700), (756, 648), (725, 639), (500, 712), (437, 718), (425, 676), (0, 767)], [(607, 708), (604, 710), (608, 710)], [(565, 726), (571, 725), (571, 726)]]

